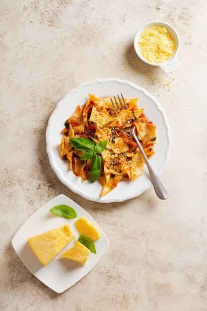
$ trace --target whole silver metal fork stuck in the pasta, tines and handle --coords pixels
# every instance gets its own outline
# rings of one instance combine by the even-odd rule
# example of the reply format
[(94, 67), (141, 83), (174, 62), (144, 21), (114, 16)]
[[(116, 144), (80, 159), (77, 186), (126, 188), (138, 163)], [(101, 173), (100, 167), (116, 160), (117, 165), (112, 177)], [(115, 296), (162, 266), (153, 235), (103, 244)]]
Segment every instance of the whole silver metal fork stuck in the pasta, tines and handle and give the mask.
[[(118, 99), (119, 99), (119, 103), (120, 103), (120, 106), (121, 106), (121, 109), (119, 107), (119, 104), (117, 102), (117, 99), (116, 97), (114, 96), (114, 100), (115, 100), (115, 103), (116, 103), (116, 106), (117, 106), (117, 109), (116, 109), (116, 106), (111, 98), (111, 103), (113, 105), (113, 108), (114, 108), (114, 111), (116, 113), (116, 116), (118, 115), (118, 113), (122, 110), (122, 109), (127, 109), (129, 110), (127, 104), (126, 104), (126, 101), (124, 99), (124, 96), (122, 95), (121, 93), (121, 96), (122, 96), (122, 100), (123, 100), (123, 103), (125, 105), (125, 107), (123, 106), (123, 103), (119, 97), (119, 95), (117, 94), (118, 96)], [(138, 144), (138, 148), (144, 158), (144, 161), (146, 163), (146, 166), (149, 170), (149, 174), (150, 174), (150, 177), (151, 177), (151, 181), (152, 181), (152, 184), (153, 184), (153, 187), (154, 187), (154, 191), (156, 193), (156, 195), (158, 196), (159, 199), (161, 200), (166, 200), (168, 198), (168, 191), (166, 189), (166, 187), (163, 185), (163, 183), (161, 182), (161, 180), (159, 179), (158, 175), (155, 173), (154, 169), (152, 168), (151, 164), (149, 163), (142, 147), (141, 147), (141, 144), (139, 143), (139, 140), (135, 134), (135, 126), (131, 126), (131, 127), (128, 127), (128, 128), (123, 128), (123, 130), (125, 132), (128, 132), (131, 134), (131, 136), (134, 138), (135, 142)]]

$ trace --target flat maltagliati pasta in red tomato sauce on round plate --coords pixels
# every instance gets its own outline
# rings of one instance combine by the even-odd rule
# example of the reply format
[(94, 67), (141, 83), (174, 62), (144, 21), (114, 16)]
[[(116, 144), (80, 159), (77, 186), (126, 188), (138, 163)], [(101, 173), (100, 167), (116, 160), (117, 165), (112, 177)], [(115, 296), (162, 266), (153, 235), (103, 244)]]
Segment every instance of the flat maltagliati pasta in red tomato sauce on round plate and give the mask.
[(103, 160), (98, 177), (103, 186), (101, 196), (113, 190), (121, 179), (134, 180), (142, 174), (143, 157), (134, 139), (124, 128), (135, 125), (146, 156), (149, 158), (154, 154), (156, 126), (144, 117), (143, 108), (138, 108), (138, 98), (125, 100), (129, 110), (121, 110), (116, 116), (110, 97), (101, 99), (89, 93), (86, 104), (82, 109), (77, 106), (63, 129), (61, 157), (69, 161), (70, 168), (76, 176), (81, 177), (82, 182), (91, 177), (91, 159), (81, 160), (86, 151), (74, 148), (70, 139), (89, 139), (94, 144), (108, 141), (100, 154)]

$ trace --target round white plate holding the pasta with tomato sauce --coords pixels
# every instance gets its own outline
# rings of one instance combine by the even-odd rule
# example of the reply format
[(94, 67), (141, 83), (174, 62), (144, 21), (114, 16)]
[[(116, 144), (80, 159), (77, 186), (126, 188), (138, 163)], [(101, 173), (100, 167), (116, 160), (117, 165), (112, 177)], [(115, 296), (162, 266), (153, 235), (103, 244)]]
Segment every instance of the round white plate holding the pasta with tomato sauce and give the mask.
[(50, 164), (58, 178), (69, 189), (91, 201), (101, 203), (122, 202), (137, 197), (152, 185), (146, 165), (144, 165), (141, 176), (133, 181), (121, 180), (117, 188), (100, 197), (101, 184), (98, 181), (92, 184), (87, 180), (81, 183), (81, 178), (75, 176), (73, 171), (69, 170), (68, 163), (60, 157), (59, 146), (64, 123), (71, 117), (78, 104), (82, 106), (86, 103), (88, 93), (103, 98), (121, 92), (125, 98), (138, 97), (139, 108), (144, 108), (146, 118), (152, 120), (157, 127), (157, 140), (154, 145), (155, 155), (151, 156), (149, 160), (158, 175), (163, 172), (170, 156), (171, 134), (166, 114), (159, 102), (145, 89), (130, 81), (118, 78), (96, 79), (78, 85), (58, 103), (48, 121), (46, 131), (47, 153)]

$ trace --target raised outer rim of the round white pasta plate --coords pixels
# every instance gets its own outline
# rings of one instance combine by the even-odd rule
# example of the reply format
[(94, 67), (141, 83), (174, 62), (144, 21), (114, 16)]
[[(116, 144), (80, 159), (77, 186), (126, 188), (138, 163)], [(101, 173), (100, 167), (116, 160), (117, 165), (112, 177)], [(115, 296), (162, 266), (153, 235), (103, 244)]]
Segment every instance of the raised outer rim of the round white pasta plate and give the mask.
[(69, 184), (61, 175), (61, 173), (59, 172), (59, 169), (56, 168), (56, 166), (54, 165), (54, 162), (53, 162), (53, 158), (52, 158), (52, 154), (51, 154), (51, 148), (50, 148), (50, 139), (49, 139), (49, 132), (50, 132), (50, 129), (51, 129), (51, 125), (52, 125), (52, 120), (54, 118), (54, 115), (56, 114), (56, 112), (59, 110), (59, 107), (60, 105), (66, 100), (66, 98), (71, 94), (73, 93), (74, 91), (77, 91), (79, 88), (81, 88), (82, 86), (85, 86), (85, 85), (90, 85), (90, 84), (93, 84), (93, 83), (104, 83), (104, 82), (109, 82), (109, 81), (116, 81), (116, 82), (119, 82), (119, 83), (127, 83), (129, 85), (131, 85), (132, 87), (138, 89), (139, 91), (141, 91), (142, 93), (144, 93), (146, 96), (148, 96), (156, 105), (157, 109), (161, 112), (162, 114), (162, 117), (163, 117), (163, 121), (164, 121), (164, 124), (165, 124), (165, 127), (167, 129), (167, 138), (168, 138), (168, 149), (166, 151), (166, 157), (165, 157), (165, 161), (162, 165), (162, 167), (160, 168), (160, 170), (158, 171), (158, 176), (160, 176), (170, 158), (170, 152), (171, 152), (171, 148), (172, 148), (172, 138), (171, 138), (171, 129), (170, 129), (170, 125), (169, 125), (169, 122), (168, 122), (168, 119), (167, 119), (167, 116), (166, 116), (166, 113), (164, 111), (164, 109), (162, 108), (161, 104), (158, 102), (158, 100), (153, 96), (151, 95), (149, 92), (147, 92), (143, 87), (140, 87), (138, 86), (137, 84), (131, 82), (131, 81), (128, 81), (128, 80), (125, 80), (125, 79), (120, 79), (120, 78), (97, 78), (97, 79), (94, 79), (94, 80), (90, 80), (90, 81), (86, 81), (86, 82), (83, 82), (83, 83), (80, 83), (78, 84), (76, 87), (73, 87), (56, 105), (53, 113), (51, 114), (49, 120), (48, 120), (48, 126), (47, 126), (47, 129), (46, 129), (46, 145), (47, 145), (47, 154), (48, 154), (48, 157), (49, 157), (49, 161), (50, 161), (50, 165), (52, 167), (52, 169), (54, 170), (54, 172), (56, 173), (57, 177), (59, 178), (59, 180), (65, 185), (67, 186), (71, 191), (73, 191), (74, 193), (77, 193), (79, 194), (81, 197), (83, 197), (84, 199), (86, 200), (89, 200), (89, 201), (94, 201), (94, 202), (98, 202), (98, 203), (115, 203), (115, 202), (123, 202), (123, 201), (126, 201), (126, 200), (130, 200), (130, 199), (133, 199), (133, 198), (136, 198), (138, 197), (141, 193), (145, 192), (146, 190), (148, 190), (151, 185), (152, 185), (152, 182), (150, 181), (149, 184), (144, 187), (144, 188), (141, 188), (138, 192), (136, 192), (135, 194), (132, 194), (132, 195), (126, 195), (125, 197), (123, 198), (120, 198), (120, 199), (108, 199), (108, 200), (104, 200), (102, 201), (100, 198), (96, 198), (96, 197), (89, 197), (85, 194), (83, 194), (81, 191), (79, 191), (78, 189), (74, 189), (74, 187)]

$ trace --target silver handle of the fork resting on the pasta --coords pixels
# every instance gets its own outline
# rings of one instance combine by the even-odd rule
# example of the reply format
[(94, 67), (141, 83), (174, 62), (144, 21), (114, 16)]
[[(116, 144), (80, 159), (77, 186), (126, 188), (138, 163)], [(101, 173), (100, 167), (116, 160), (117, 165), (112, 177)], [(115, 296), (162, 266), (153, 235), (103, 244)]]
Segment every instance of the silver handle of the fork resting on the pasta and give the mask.
[(163, 185), (163, 183), (161, 182), (161, 180), (159, 179), (158, 175), (155, 173), (155, 171), (153, 170), (153, 168), (151, 167), (151, 164), (149, 163), (142, 147), (141, 144), (138, 141), (137, 136), (135, 135), (134, 131), (131, 133), (134, 140), (136, 141), (136, 143), (138, 144), (138, 148), (144, 158), (144, 161), (146, 162), (146, 166), (149, 170), (149, 174), (151, 177), (151, 181), (154, 187), (154, 191), (156, 193), (156, 195), (158, 196), (159, 199), (161, 200), (166, 200), (168, 198), (168, 191), (166, 189), (166, 187)]

